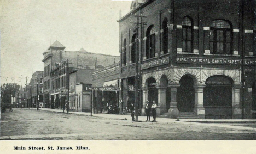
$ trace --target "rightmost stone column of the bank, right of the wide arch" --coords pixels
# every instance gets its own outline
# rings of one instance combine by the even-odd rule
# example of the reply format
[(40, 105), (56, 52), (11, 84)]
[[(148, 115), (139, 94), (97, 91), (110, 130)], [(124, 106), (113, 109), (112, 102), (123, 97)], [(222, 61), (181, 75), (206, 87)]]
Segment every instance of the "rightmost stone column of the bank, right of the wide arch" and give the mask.
[(232, 119), (242, 119), (242, 109), (240, 108), (240, 85), (235, 85), (233, 88), (233, 103), (232, 103)]

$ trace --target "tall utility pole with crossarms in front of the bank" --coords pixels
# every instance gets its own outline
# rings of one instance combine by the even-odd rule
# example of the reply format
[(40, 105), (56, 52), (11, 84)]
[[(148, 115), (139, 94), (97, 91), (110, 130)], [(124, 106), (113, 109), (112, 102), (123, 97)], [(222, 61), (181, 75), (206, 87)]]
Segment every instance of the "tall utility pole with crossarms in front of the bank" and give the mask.
[[(138, 84), (138, 82), (140, 81), (140, 74), (138, 75), (138, 61), (141, 61), (140, 54), (139, 54), (139, 28), (141, 28), (142, 25), (146, 25), (146, 22), (142, 22), (142, 18), (146, 18), (147, 16), (143, 16), (143, 15), (132, 15), (133, 17), (137, 17), (137, 22), (132, 22), (130, 21), (130, 23), (136, 24), (136, 28), (135, 28), (135, 32), (136, 32), (136, 46), (135, 46), (135, 61), (136, 61), (136, 70), (135, 70), (135, 116), (136, 116), (136, 120), (138, 122), (138, 102), (139, 102), (139, 94), (138, 94), (138, 89), (140, 85)], [(139, 21), (141, 20), (141, 21)], [(141, 62), (140, 62), (141, 63)]]

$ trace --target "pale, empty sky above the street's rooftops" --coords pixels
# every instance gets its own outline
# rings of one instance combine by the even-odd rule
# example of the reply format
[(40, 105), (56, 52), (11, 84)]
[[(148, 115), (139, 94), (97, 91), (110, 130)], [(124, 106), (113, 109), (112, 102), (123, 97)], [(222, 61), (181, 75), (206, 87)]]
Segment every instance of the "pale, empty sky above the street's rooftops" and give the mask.
[(119, 11), (132, 1), (0, 0), (1, 84), (25, 85), (43, 71), (43, 52), (55, 40), (66, 51), (119, 54)]

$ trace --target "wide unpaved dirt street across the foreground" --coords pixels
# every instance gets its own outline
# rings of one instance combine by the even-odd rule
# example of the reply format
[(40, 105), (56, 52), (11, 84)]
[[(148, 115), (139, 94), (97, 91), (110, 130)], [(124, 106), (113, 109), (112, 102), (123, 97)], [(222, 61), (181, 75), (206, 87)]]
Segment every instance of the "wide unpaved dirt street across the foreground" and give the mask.
[[(118, 116), (118, 115), (117, 115)], [(143, 118), (141, 118), (143, 120)], [(253, 140), (256, 124), (132, 122), (34, 109), (1, 113), (1, 137), (13, 140)], [(237, 129), (243, 126), (245, 129)]]

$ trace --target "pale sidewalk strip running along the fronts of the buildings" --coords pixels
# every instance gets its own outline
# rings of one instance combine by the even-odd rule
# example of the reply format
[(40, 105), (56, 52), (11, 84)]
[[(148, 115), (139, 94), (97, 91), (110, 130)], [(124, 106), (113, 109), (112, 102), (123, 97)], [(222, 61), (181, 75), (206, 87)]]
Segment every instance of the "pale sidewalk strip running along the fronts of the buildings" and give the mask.
[[(30, 109), (35, 109), (35, 108), (30, 108)], [(46, 110), (46, 111), (50, 111), (50, 112), (63, 112), (63, 110), (59, 110), (59, 109), (48, 109), (48, 108), (40, 108), (40, 110)], [(67, 113), (67, 111), (65, 110), (65, 113)], [(78, 115), (88, 115), (90, 116), (91, 113), (88, 112), (72, 112), (69, 111), (70, 114), (78, 114)], [(92, 113), (92, 116), (95, 117), (100, 117), (100, 118), (109, 118), (109, 119), (117, 119), (117, 120), (125, 120), (125, 118), (128, 121), (131, 121), (131, 115), (120, 115), (120, 114), (104, 114), (104, 113), (98, 113), (98, 114), (94, 114)], [(146, 120), (146, 116), (139, 116), (139, 121), (142, 122), (150, 122), (150, 121), (145, 121)], [(153, 120), (153, 117), (152, 117)], [(156, 121), (157, 122), (176, 122), (177, 119), (170, 119), (170, 118), (159, 118), (156, 117)], [(179, 121), (182, 122), (202, 122), (202, 123), (246, 123), (246, 122), (256, 122), (256, 119), (179, 119)]]

